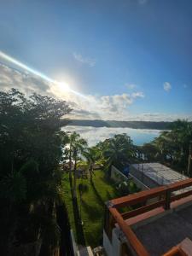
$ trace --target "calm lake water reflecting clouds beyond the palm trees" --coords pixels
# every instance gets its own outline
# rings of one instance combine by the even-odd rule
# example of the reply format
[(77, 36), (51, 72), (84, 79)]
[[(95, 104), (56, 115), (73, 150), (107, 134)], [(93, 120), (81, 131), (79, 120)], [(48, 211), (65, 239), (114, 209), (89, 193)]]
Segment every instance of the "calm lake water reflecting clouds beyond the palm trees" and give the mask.
[(100, 141), (113, 137), (115, 134), (126, 133), (129, 135), (135, 145), (143, 145), (153, 141), (154, 137), (160, 135), (159, 130), (131, 129), (131, 128), (108, 128), (108, 127), (90, 127), (73, 126), (63, 127), (63, 131), (76, 131), (81, 137), (87, 140), (89, 146), (94, 146)]

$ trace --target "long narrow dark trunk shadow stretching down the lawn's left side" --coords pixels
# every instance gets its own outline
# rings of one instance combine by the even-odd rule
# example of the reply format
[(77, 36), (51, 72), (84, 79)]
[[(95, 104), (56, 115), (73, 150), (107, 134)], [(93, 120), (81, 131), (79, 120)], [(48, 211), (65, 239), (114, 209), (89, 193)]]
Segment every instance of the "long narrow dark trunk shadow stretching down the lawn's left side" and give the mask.
[(74, 222), (75, 222), (78, 243), (85, 246), (86, 242), (84, 239), (84, 230), (81, 224), (77, 198), (73, 199), (73, 215), (74, 215)]

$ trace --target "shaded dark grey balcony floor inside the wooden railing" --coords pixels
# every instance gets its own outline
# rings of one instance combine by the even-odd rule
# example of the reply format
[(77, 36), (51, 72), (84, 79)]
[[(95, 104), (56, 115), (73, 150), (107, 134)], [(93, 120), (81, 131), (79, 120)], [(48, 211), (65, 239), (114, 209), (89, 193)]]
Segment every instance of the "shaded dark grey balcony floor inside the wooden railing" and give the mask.
[(192, 240), (192, 206), (168, 213), (134, 232), (151, 256), (166, 253), (186, 237)]

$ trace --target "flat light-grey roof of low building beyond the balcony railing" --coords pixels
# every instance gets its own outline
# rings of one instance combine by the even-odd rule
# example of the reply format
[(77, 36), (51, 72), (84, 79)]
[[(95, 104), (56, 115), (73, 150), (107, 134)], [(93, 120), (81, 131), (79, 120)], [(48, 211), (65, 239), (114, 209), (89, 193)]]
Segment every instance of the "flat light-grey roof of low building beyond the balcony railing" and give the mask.
[[(170, 183), (176, 183), (187, 176), (173, 171), (171, 168), (161, 165), (160, 163), (144, 163), (131, 165), (137, 172), (143, 173), (145, 176), (150, 177), (155, 183), (159, 185), (166, 185)], [(133, 172), (131, 174), (134, 175)]]

